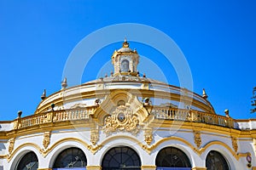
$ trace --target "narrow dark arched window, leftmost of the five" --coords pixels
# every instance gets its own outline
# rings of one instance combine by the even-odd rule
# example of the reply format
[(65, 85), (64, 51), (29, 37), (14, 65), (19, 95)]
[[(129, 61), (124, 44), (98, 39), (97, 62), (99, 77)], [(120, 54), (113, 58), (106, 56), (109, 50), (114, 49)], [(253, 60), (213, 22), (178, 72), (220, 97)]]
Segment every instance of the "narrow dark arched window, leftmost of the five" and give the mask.
[(32, 151), (23, 156), (18, 164), (17, 170), (37, 170), (38, 156)]

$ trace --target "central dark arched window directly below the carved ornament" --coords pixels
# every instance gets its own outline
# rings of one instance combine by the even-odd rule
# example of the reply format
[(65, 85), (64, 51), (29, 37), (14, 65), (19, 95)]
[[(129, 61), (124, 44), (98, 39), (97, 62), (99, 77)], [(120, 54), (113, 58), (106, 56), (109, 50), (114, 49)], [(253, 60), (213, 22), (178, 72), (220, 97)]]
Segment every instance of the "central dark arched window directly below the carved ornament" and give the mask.
[(140, 170), (141, 159), (135, 150), (127, 146), (114, 147), (102, 159), (102, 170)]

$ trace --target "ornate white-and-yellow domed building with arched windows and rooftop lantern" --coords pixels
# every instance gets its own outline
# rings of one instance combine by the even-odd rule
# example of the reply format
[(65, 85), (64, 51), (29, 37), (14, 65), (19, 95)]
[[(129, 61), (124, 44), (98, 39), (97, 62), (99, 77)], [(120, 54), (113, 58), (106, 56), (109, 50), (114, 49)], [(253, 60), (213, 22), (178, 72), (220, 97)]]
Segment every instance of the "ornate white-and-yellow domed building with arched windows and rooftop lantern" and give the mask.
[(137, 71), (124, 42), (110, 77), (62, 89), (0, 122), (2, 170), (256, 169), (256, 120), (215, 113), (207, 94)]

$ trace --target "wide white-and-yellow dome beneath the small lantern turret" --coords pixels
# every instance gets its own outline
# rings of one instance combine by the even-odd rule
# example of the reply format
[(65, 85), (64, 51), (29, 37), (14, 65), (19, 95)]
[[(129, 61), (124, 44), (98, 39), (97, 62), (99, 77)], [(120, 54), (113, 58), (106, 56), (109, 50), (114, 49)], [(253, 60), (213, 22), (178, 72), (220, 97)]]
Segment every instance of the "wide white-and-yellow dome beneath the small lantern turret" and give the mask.
[[(134, 94), (133, 91), (136, 93)], [(125, 99), (119, 100), (125, 100), (125, 103), (132, 95), (140, 102), (140, 105), (143, 105), (144, 99), (148, 98), (153, 108), (169, 110), (170, 105), (175, 105), (175, 110), (200, 111), (207, 115), (215, 115), (211, 103), (203, 96), (186, 88), (179, 88), (145, 76), (135, 76), (132, 73), (101, 77), (79, 86), (64, 88), (44, 99), (35, 113), (51, 111), (52, 103), (55, 103), (55, 110), (72, 109), (78, 105), (95, 106), (96, 99), (99, 99), (101, 103), (107, 102), (108, 95), (120, 92), (125, 94), (123, 97)], [(118, 105), (118, 101), (114, 102)], [(103, 107), (102, 105), (104, 110)]]

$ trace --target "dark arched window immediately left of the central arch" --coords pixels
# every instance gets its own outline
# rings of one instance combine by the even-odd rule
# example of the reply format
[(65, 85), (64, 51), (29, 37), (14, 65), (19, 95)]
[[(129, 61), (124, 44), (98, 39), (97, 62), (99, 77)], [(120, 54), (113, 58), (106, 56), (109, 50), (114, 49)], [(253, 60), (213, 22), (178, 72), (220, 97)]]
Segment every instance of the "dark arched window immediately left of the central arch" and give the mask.
[[(61, 153), (55, 159), (53, 166), (54, 170), (61, 169), (85, 169), (87, 165), (87, 159), (84, 155), (83, 150), (79, 148), (67, 148), (66, 150), (61, 151)], [(78, 168), (80, 167), (80, 168)]]

